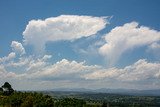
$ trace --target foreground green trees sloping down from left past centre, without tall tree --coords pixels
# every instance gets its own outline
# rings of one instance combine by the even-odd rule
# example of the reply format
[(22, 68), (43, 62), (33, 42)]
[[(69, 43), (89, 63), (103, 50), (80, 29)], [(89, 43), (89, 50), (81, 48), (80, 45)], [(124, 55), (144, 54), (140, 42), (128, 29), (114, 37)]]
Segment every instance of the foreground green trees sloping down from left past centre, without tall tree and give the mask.
[(0, 107), (103, 107), (103, 105), (87, 104), (83, 99), (54, 99), (42, 93), (15, 91), (9, 96), (0, 95)]

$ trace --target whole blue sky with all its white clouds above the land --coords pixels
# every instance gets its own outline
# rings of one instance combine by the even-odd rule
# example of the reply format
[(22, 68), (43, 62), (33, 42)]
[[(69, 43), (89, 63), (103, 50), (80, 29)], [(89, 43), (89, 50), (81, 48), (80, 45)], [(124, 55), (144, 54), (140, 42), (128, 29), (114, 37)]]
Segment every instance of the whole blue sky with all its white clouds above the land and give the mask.
[(0, 0), (0, 85), (160, 89), (159, 0)]

